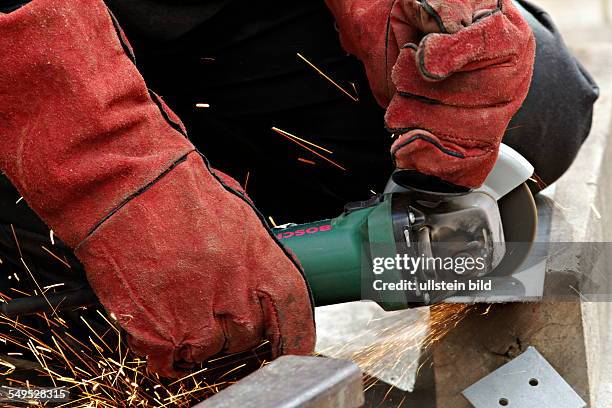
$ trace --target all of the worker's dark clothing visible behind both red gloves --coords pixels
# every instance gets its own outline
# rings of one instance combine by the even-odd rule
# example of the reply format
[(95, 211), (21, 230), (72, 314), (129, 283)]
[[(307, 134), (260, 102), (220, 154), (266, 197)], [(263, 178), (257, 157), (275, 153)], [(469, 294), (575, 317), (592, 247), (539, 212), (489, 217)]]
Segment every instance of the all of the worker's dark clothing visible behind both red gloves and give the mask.
[[(2, 0), (0, 0), (2, 1)], [(6, 0), (5, 0), (6, 1)], [(278, 222), (337, 215), (344, 203), (380, 192), (392, 171), (384, 111), (361, 63), (340, 47), (320, 1), (107, 0), (136, 51), (149, 86), (188, 127), (217, 167), (244, 183)], [(15, 1), (9, 1), (14, 5)], [(591, 124), (597, 87), (571, 56), (548, 15), (521, 2), (537, 38), (534, 80), (505, 142), (544, 184), (560, 177)], [(360, 101), (343, 95), (301, 53)], [(210, 108), (197, 109), (196, 103)], [(291, 132), (334, 151), (342, 171), (271, 131)], [(298, 159), (316, 162), (309, 164)], [(0, 223), (48, 235), (6, 179)]]

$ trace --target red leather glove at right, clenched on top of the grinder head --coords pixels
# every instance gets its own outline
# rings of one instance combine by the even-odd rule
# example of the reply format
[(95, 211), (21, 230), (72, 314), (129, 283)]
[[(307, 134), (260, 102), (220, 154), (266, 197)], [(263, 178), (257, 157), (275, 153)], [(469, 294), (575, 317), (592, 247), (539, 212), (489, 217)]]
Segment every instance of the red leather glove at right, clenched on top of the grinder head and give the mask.
[(327, 3), (387, 107), (397, 167), (480, 186), (533, 73), (535, 39), (512, 1)]

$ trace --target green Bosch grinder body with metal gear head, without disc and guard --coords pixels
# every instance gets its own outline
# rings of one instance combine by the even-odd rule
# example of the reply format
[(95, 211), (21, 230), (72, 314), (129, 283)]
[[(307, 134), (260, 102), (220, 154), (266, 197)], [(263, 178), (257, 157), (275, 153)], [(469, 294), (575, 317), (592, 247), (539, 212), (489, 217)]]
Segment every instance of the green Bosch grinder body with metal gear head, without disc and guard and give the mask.
[[(275, 233), (302, 264), (317, 306), (373, 300), (398, 310), (438, 303), (452, 293), (422, 290), (419, 283), (484, 276), (505, 253), (497, 202), (482, 192), (384, 194), (349, 204), (337, 218)], [(480, 268), (476, 261), (460, 273), (442, 268), (442, 262), (458, 258), (479, 260)], [(412, 290), (381, 290), (408, 282)]]

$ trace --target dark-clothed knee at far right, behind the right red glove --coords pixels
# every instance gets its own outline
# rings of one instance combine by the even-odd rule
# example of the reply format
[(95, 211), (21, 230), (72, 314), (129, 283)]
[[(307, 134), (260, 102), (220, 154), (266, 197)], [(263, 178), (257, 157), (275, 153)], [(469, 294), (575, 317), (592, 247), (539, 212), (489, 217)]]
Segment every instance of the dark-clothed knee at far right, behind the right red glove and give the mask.
[(504, 143), (533, 164), (546, 187), (565, 173), (591, 131), (599, 88), (567, 49), (550, 16), (527, 1), (519, 4), (536, 38), (535, 69), (529, 95)]

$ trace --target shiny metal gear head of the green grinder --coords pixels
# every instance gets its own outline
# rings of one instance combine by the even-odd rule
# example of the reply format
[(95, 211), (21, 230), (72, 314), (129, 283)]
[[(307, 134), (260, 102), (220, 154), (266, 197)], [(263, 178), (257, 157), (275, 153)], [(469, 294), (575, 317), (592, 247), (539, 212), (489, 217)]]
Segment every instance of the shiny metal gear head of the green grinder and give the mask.
[(415, 282), (414, 299), (433, 303), (448, 290), (433, 284), (479, 278), (493, 272), (506, 247), (497, 201), (479, 191), (432, 192), (409, 188), (391, 198), (398, 254), (420, 258), (406, 279)]

